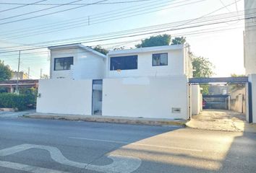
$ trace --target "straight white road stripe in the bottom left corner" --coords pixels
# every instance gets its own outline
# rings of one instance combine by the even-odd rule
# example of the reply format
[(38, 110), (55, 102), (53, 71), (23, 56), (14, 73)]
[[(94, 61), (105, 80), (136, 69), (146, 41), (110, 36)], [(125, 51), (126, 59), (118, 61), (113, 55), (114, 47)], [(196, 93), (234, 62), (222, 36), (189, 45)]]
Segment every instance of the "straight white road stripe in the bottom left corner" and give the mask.
[(9, 161), (0, 161), (0, 167), (6, 167), (10, 169), (16, 169), (22, 172), (32, 172), (32, 173), (69, 173), (62, 172), (54, 169), (42, 168), (42, 167), (33, 167), (27, 164), (18, 164), (12, 163)]

